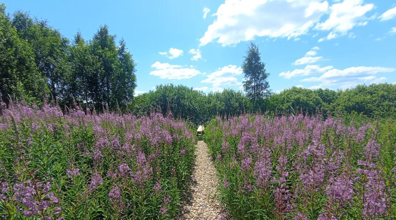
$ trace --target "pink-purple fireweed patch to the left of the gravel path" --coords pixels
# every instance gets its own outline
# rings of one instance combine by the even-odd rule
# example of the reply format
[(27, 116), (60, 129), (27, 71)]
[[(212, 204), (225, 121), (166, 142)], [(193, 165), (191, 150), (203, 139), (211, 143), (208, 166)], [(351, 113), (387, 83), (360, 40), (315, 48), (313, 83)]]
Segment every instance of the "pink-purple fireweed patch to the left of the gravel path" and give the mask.
[(194, 159), (171, 115), (2, 104), (0, 218), (172, 219)]

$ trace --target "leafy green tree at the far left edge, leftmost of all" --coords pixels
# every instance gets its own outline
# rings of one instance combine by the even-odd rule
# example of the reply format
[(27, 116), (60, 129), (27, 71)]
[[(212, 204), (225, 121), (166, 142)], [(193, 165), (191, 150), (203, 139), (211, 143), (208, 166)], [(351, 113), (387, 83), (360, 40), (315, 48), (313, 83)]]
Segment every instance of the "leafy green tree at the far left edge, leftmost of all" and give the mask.
[(26, 40), (19, 38), (17, 29), (0, 4), (0, 95), (8, 103), (8, 96), (23, 96), (39, 103), (48, 92), (45, 80), (37, 71), (34, 52)]

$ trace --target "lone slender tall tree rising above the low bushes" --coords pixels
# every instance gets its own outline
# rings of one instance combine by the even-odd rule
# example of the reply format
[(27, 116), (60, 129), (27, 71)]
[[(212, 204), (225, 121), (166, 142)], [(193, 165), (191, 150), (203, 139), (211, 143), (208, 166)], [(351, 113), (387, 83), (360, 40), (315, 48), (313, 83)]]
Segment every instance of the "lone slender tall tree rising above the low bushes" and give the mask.
[(268, 98), (270, 89), (267, 78), (269, 73), (265, 70), (265, 63), (261, 62), (260, 52), (257, 45), (250, 43), (246, 51), (242, 71), (245, 74), (244, 90), (246, 97), (252, 100), (252, 111), (259, 99)]

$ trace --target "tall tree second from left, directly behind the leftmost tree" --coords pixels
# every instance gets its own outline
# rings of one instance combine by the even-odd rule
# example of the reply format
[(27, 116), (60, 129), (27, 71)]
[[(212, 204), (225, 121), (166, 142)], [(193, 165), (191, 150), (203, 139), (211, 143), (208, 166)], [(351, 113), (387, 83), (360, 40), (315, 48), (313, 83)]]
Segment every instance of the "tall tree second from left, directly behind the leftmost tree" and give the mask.
[(46, 21), (30, 18), (29, 14), (17, 11), (13, 15), (13, 25), (19, 36), (27, 40), (35, 54), (38, 71), (46, 77), (51, 97), (61, 96), (64, 76), (69, 71), (69, 40), (58, 30), (49, 27)]

